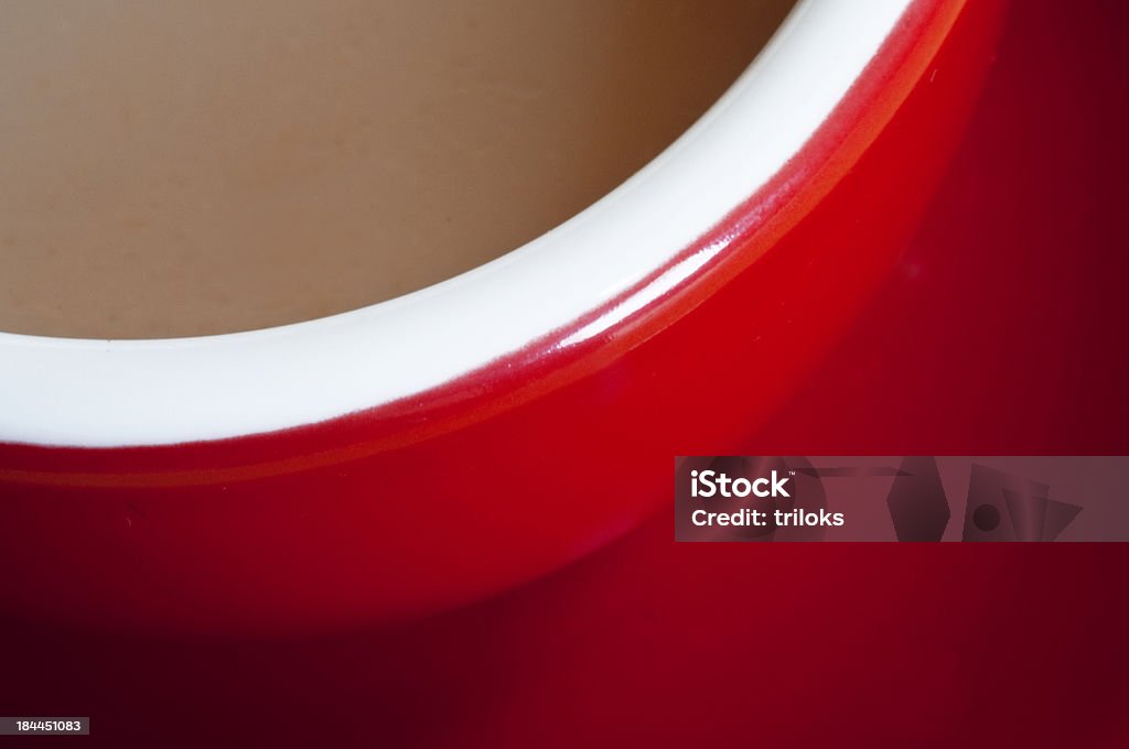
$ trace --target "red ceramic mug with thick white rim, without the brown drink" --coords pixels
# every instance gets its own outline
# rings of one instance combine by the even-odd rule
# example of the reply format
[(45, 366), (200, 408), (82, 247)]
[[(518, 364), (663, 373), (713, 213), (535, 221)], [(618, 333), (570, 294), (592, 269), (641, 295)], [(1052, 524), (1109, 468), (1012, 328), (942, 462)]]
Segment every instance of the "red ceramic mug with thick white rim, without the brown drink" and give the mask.
[(674, 456), (742, 451), (896, 262), (1003, 9), (800, 0), (613, 193), (399, 299), (200, 338), (0, 334), (0, 607), (375, 622), (631, 529)]

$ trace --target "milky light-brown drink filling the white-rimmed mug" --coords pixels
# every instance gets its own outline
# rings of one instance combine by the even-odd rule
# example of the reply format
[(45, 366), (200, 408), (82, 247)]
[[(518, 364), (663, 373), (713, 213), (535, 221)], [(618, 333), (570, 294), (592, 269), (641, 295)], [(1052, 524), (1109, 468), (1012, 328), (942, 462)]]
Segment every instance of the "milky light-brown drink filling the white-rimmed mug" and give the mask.
[(441, 281), (644, 166), (790, 5), (0, 0), (0, 331), (227, 333)]

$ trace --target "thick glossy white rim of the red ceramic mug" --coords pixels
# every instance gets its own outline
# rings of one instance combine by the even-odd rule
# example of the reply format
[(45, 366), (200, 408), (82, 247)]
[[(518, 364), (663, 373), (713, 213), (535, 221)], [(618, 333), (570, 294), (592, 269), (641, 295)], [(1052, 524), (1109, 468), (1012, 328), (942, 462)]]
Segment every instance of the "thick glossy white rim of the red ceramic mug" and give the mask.
[[(421, 291), (196, 338), (0, 333), (0, 442), (117, 447), (268, 432), (412, 396), (517, 351), (668, 263), (764, 185), (911, 2), (802, 0), (726, 95), (646, 168), (524, 247)], [(709, 256), (706, 248), (669, 268), (655, 294), (564, 344), (637, 311)]]

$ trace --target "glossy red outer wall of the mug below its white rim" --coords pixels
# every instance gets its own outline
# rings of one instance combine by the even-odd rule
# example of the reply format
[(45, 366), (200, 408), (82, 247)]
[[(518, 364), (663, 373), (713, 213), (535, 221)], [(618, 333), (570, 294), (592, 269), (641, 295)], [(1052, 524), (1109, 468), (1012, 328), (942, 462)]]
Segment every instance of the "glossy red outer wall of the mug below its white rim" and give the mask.
[(371, 622), (504, 590), (634, 527), (671, 500), (673, 457), (741, 444), (896, 262), (1003, 10), (917, 0), (802, 152), (700, 240), (724, 252), (580, 345), (559, 342), (585, 319), (422, 396), (282, 432), (0, 444), (0, 606), (173, 629)]

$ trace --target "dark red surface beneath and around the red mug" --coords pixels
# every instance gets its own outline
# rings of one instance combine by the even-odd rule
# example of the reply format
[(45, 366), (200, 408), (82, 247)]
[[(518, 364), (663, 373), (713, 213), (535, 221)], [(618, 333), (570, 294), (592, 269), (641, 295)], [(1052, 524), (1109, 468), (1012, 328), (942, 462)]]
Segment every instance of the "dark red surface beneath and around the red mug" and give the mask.
[[(1013, 3), (904, 261), (743, 450), (1129, 452), (1126, 21)], [(93, 715), (96, 746), (1129, 744), (1124, 545), (671, 538), (660, 512), (509, 594), (308, 638), (8, 619), (0, 706)]]

